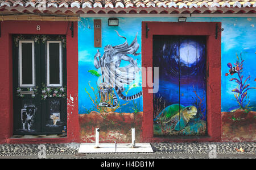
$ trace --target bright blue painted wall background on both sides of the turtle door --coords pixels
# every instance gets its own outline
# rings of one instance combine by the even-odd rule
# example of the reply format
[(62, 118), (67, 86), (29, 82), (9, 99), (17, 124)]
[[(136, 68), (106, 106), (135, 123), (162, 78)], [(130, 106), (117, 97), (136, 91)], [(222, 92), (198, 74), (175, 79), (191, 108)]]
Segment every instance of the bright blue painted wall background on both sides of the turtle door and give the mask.
[[(102, 48), (93, 47), (93, 19), (102, 19)], [(90, 89), (90, 86), (88, 85), (88, 82), (90, 81), (92, 86), (96, 85), (97, 77), (88, 73), (88, 71), (95, 69), (93, 65), (93, 57), (97, 53), (97, 49), (99, 49), (103, 54), (105, 45), (118, 45), (123, 43), (123, 39), (119, 38), (114, 30), (117, 30), (120, 35), (125, 36), (129, 44), (133, 41), (135, 35), (138, 33), (137, 39), (138, 43), (140, 44), (138, 52), (141, 52), (142, 21), (177, 22), (177, 18), (175, 17), (118, 19), (118, 27), (109, 27), (108, 18), (81, 18), (79, 21), (79, 113), (85, 113), (84, 107), (87, 109), (93, 107), (88, 94), (85, 92), (85, 88), (88, 90), (88, 92), (93, 93)], [(238, 55), (242, 53), (242, 58), (245, 60), (243, 63), (243, 74), (245, 77), (250, 75), (251, 78), (248, 80), (248, 83), (250, 84), (250, 87), (256, 87), (256, 47), (254, 43), (256, 35), (256, 18), (189, 17), (187, 18), (187, 22), (221, 22), (222, 28), (224, 28), (224, 31), (221, 33), (221, 111), (229, 111), (230, 108), (232, 110), (232, 108), (238, 107), (236, 99), (234, 98), (234, 93), (232, 92), (232, 90), (236, 88), (237, 84), (234, 81), (229, 81), (232, 76), (226, 77), (225, 73), (229, 71), (229, 68), (227, 67), (228, 63), (236, 63), (236, 53), (238, 53)], [(138, 59), (138, 67), (141, 67), (141, 55), (134, 59)], [(182, 57), (181, 60), (183, 60)], [(234, 74), (233, 77), (235, 76), (236, 75)], [(141, 82), (141, 72), (139, 73), (138, 78), (138, 82)], [(139, 90), (141, 89), (134, 88), (131, 89), (128, 93), (133, 94), (134, 92), (139, 92)], [(203, 92), (197, 90), (197, 93), (201, 93), (200, 95), (202, 95)], [(191, 93), (191, 95), (193, 95), (193, 93)], [(248, 90), (247, 96), (250, 99), (251, 109), (256, 111), (256, 90)], [(136, 99), (136, 101), (140, 103), (142, 111), (142, 98)], [(122, 100), (120, 102), (125, 103), (125, 101)], [(129, 112), (129, 108), (132, 106), (133, 105), (129, 103), (123, 107), (123, 109), (126, 109), (126, 112)], [(121, 109), (121, 111), (123, 110)]]

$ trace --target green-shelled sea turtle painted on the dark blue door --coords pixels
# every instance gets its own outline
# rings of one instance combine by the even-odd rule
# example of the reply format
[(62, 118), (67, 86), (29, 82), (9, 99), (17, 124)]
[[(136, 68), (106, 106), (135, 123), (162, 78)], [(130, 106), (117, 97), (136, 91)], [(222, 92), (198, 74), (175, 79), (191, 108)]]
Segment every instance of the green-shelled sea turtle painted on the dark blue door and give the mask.
[(190, 119), (195, 118), (197, 109), (195, 106), (183, 106), (173, 104), (164, 108), (159, 115), (154, 119), (154, 122), (172, 123), (174, 130), (182, 130)]

